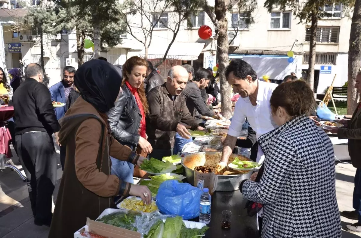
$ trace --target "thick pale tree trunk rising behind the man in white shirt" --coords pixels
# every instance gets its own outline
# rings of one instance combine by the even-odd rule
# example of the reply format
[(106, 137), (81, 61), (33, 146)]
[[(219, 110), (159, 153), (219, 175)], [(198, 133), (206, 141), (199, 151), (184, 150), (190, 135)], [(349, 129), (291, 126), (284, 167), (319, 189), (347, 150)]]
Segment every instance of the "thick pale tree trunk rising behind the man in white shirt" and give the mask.
[(227, 6), (224, 0), (216, 0), (214, 8), (214, 13), (216, 14), (216, 18), (219, 22), (217, 38), (217, 58), (219, 65), (219, 82), (221, 84), (221, 113), (225, 118), (229, 119), (232, 117), (232, 102), (231, 86), (227, 82), (227, 78), (225, 75), (226, 67), (229, 65)]

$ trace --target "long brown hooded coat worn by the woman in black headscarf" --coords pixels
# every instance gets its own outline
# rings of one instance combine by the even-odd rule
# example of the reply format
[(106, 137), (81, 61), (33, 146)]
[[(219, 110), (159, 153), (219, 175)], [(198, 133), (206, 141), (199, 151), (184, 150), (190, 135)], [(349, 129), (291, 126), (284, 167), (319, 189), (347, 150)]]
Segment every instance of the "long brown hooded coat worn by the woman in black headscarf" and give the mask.
[(113, 196), (129, 193), (130, 184), (110, 175), (109, 155), (136, 164), (138, 155), (107, 132), (105, 114), (79, 97), (60, 120), (59, 142), (66, 146), (65, 167), (49, 238), (70, 238), (112, 207)]

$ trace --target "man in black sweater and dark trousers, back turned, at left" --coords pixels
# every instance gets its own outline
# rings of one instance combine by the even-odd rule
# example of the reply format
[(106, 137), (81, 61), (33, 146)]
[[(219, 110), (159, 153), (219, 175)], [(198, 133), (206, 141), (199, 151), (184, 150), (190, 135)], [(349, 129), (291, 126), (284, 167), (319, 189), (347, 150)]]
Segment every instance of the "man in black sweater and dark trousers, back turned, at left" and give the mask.
[(25, 77), (13, 95), (17, 152), (28, 179), (34, 224), (50, 226), (56, 182), (52, 134), (57, 134), (60, 126), (50, 92), (42, 83), (42, 67), (35, 63), (27, 65)]

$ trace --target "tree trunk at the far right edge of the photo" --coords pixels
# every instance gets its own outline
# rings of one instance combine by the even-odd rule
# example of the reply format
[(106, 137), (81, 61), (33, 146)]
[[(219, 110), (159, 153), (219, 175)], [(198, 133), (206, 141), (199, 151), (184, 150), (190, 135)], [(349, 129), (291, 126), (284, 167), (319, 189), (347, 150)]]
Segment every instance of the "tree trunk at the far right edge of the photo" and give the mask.
[(353, 10), (351, 34), (348, 48), (348, 78), (347, 78), (347, 114), (352, 115), (356, 110), (358, 93), (355, 79), (360, 71), (361, 59), (361, 0), (356, 0)]

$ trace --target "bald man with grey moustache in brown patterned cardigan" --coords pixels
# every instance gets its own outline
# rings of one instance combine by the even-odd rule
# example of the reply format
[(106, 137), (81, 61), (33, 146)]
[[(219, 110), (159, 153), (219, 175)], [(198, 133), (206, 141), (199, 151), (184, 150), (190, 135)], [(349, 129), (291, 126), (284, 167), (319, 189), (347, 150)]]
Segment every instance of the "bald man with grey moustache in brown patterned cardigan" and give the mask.
[(188, 81), (188, 72), (182, 66), (172, 67), (167, 81), (148, 93), (149, 116), (147, 118), (148, 142), (153, 151), (150, 158), (161, 160), (173, 154), (175, 132), (186, 139), (191, 134), (188, 128), (204, 131), (193, 119), (182, 94)]

